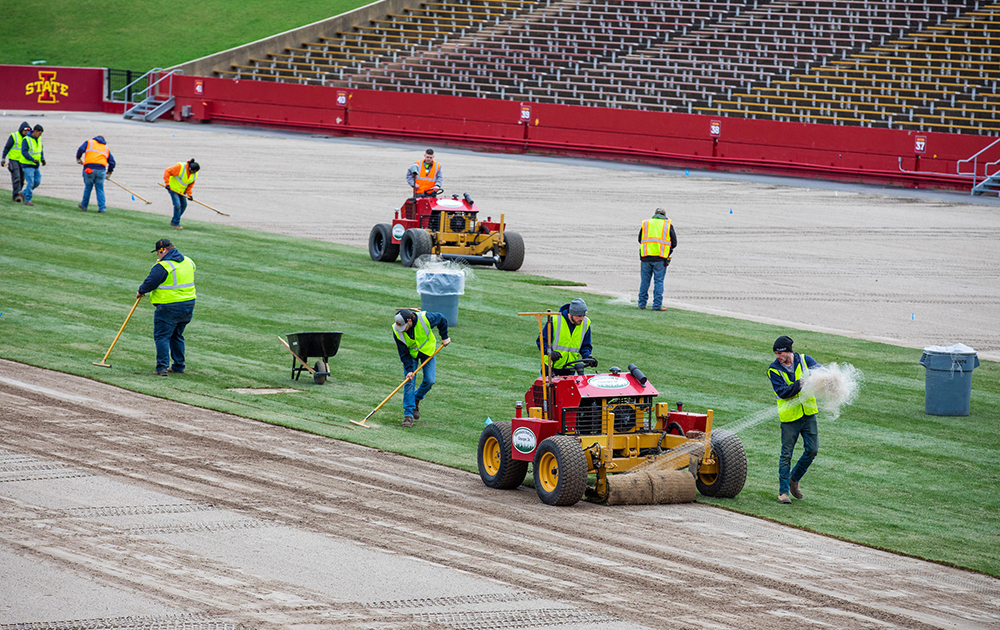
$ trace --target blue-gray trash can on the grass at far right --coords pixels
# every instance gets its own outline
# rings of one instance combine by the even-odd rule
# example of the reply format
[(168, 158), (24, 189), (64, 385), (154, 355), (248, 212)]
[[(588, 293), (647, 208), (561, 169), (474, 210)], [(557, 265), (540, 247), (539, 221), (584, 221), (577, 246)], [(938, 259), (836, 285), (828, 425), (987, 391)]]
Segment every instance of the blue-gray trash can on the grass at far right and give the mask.
[(979, 367), (976, 351), (956, 343), (924, 348), (920, 365), (926, 368), (924, 412), (932, 416), (967, 416), (972, 400), (972, 370)]

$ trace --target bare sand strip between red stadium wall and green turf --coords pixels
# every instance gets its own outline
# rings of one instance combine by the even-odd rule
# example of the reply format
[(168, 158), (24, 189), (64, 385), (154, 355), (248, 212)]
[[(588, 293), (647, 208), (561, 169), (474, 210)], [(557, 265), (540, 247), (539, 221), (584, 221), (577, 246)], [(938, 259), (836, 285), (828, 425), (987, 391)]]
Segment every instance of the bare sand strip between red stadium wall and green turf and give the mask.
[[(115, 179), (153, 202), (109, 184), (108, 203), (162, 215), (164, 235), (178, 239), (157, 186), (178, 161), (201, 163), (195, 197), (231, 215), (192, 204), (188, 229), (197, 220), (365, 247), (408, 195), (405, 171), (428, 146), (91, 113), (5, 112), (0, 124), (13, 130), (22, 119), (46, 129), (38, 194), (78, 200), (76, 148), (102, 134)], [(1000, 360), (996, 199), (436, 150), (449, 194), (468, 192), (523, 236), (524, 272), (634, 303), (639, 225), (664, 207), (679, 240), (671, 308), (912, 348), (961, 342)], [(763, 351), (770, 343), (761, 340)]]

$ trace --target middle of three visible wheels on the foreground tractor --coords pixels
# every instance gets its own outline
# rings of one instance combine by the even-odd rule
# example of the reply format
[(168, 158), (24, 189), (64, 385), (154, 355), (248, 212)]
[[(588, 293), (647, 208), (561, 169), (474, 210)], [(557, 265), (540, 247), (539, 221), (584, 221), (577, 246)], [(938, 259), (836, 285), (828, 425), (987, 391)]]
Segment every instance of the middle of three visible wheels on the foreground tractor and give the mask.
[(535, 492), (548, 505), (574, 505), (587, 490), (587, 456), (568, 435), (545, 438), (532, 466)]

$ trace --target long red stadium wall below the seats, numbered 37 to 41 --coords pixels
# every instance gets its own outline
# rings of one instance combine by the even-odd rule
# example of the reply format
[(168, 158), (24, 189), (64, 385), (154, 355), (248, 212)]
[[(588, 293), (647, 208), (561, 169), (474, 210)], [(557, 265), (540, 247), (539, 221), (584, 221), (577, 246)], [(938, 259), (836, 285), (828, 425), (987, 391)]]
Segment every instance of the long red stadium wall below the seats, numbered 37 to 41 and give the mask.
[[(957, 161), (992, 141), (958, 134), (205, 77), (179, 77), (175, 91), (177, 120), (965, 190), (970, 180), (956, 176)], [(1000, 147), (994, 153), (988, 160), (1000, 159)]]

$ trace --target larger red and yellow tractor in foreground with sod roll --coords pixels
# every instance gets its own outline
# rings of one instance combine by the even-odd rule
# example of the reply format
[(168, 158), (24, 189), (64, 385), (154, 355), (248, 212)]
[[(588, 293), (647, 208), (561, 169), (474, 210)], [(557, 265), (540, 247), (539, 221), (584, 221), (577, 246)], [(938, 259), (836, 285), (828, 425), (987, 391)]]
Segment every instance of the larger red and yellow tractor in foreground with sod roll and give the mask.
[[(560, 313), (518, 315), (534, 316), (541, 337)], [(488, 424), (479, 437), (487, 486), (517, 488), (532, 464), (535, 491), (549, 505), (573, 505), (584, 494), (608, 504), (685, 503), (696, 492), (731, 498), (743, 489), (743, 444), (712, 430), (711, 409), (691, 413), (681, 403), (671, 410), (655, 402), (656, 388), (635, 365), (587, 375), (584, 368), (596, 362), (580, 359), (563, 366), (575, 374), (553, 375), (540, 352), (542, 374), (523, 406), (518, 401), (512, 420)]]

